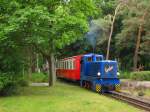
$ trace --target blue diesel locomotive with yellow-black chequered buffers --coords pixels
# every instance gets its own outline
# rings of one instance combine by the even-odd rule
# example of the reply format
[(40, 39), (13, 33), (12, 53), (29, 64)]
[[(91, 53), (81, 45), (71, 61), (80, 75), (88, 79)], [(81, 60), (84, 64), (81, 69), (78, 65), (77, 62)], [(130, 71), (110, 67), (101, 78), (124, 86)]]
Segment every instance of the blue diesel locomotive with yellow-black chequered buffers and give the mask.
[(119, 90), (117, 62), (104, 60), (102, 55), (87, 54), (81, 59), (81, 86), (97, 92)]

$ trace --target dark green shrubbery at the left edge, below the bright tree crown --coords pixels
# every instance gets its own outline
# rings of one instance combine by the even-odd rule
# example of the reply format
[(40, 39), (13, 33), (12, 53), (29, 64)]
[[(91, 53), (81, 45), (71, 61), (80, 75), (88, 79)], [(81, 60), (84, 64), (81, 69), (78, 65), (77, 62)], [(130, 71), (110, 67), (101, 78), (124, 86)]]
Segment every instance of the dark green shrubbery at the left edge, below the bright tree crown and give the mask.
[(0, 41), (0, 47), (0, 95), (16, 94), (24, 65), (21, 48), (8, 38)]

